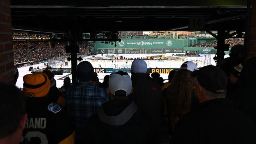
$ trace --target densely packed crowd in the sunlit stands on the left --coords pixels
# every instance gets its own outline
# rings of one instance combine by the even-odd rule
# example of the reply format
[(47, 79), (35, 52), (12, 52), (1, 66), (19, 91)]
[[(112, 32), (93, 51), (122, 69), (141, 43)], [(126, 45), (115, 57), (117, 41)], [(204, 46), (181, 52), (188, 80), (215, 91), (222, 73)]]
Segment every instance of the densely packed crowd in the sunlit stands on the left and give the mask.
[[(78, 46), (80, 49), (79, 54), (82, 56), (92, 49), (92, 45), (88, 42), (79, 42)], [(69, 55), (66, 54), (64, 43), (51, 43), (49, 45), (49, 42), (13, 42), (13, 51), (14, 64)]]

